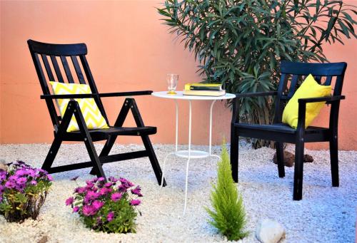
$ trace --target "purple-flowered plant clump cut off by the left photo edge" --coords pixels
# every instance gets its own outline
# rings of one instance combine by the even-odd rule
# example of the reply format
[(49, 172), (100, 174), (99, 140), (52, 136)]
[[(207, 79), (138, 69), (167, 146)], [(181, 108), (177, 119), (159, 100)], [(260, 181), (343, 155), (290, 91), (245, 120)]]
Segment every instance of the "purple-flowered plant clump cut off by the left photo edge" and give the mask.
[(36, 219), (52, 185), (45, 170), (16, 161), (0, 169), (0, 214), (8, 222)]

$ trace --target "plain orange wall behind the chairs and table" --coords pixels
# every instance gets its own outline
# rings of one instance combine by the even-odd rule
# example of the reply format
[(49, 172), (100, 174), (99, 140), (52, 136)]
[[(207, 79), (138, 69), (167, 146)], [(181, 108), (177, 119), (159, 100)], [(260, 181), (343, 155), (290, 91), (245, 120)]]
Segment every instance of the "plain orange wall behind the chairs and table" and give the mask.
[[(193, 56), (161, 24), (156, 0), (131, 1), (0, 1), (0, 143), (51, 143), (53, 133), (41, 88), (26, 40), (49, 43), (85, 42), (99, 91), (166, 89), (166, 73), (179, 73), (183, 83), (200, 81)], [(346, 61), (348, 69), (341, 105), (340, 148), (357, 150), (355, 118), (356, 41), (326, 46), (331, 61)], [(105, 98), (109, 120), (114, 123), (124, 98)], [(174, 102), (151, 96), (137, 98), (147, 125), (156, 125), (154, 143), (174, 143)], [(187, 143), (188, 103), (181, 101), (179, 142)], [(208, 143), (207, 102), (193, 103), (193, 143)], [(231, 113), (216, 103), (213, 143), (229, 138)], [(326, 123), (327, 113), (316, 123)], [(132, 125), (129, 120), (127, 125)], [(139, 143), (120, 138), (120, 143)], [(321, 147), (322, 146), (322, 147)], [(325, 146), (325, 147), (323, 147)], [(326, 148), (318, 144), (313, 148)]]

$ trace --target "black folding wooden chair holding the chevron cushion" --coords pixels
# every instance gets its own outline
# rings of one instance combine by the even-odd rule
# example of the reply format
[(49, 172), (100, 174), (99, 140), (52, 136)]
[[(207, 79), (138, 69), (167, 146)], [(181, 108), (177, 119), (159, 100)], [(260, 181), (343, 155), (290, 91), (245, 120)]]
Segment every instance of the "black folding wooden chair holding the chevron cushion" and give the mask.
[[(106, 117), (106, 112), (104, 110), (104, 106), (101, 102), (102, 97), (150, 95), (152, 91), (99, 93), (96, 88), (94, 78), (89, 69), (89, 64), (86, 60), (86, 44), (50, 44), (32, 40), (27, 41), (27, 43), (29, 44), (31, 57), (34, 61), (36, 73), (39, 76), (41, 88), (44, 93), (44, 95), (41, 95), (41, 99), (44, 99), (46, 101), (47, 107), (49, 108), (49, 114), (51, 116), (52, 124), (54, 125), (54, 142), (51, 145), (51, 148), (46, 157), (46, 160), (44, 161), (44, 164), (42, 165), (42, 168), (44, 170), (47, 170), (49, 173), (56, 173), (68, 170), (81, 169), (85, 167), (93, 167), (93, 169), (91, 170), (92, 175), (97, 175), (98, 177), (106, 178), (102, 168), (102, 164), (104, 163), (121, 160), (131, 160), (139, 157), (149, 157), (151, 166), (153, 167), (156, 175), (156, 179), (160, 184), (162, 172), (159, 162), (156, 158), (154, 148), (151, 145), (151, 141), (149, 139), (149, 135), (156, 133), (156, 127), (149, 127), (144, 125), (134, 98), (125, 99), (118, 118), (114, 123), (114, 126), (110, 126), (109, 129), (96, 130), (88, 130), (84, 121), (84, 117), (79, 108), (79, 103), (74, 100), (74, 98), (94, 98), (96, 104), (99, 107), (99, 110), (101, 111), (101, 114), (106, 120), (106, 123), (109, 124), (108, 118)], [(40, 61), (40, 58), (42, 61)], [(51, 68), (48, 58), (51, 60), (54, 70)], [(88, 82), (91, 88), (91, 94), (51, 95), (44, 74), (44, 68), (46, 70), (49, 81), (58, 81), (61, 83), (68, 81), (68, 83), (74, 83), (74, 77), (71, 74), (71, 68), (69, 67), (67, 59), (71, 59), (79, 83), (86, 84), (86, 81)], [(61, 73), (61, 68), (57, 60), (61, 60), (64, 75)], [(79, 64), (79, 61), (81, 63), (84, 73), (82, 72), (82, 68)], [(44, 68), (42, 67), (42, 65), (44, 66)], [(56, 78), (54, 77), (54, 73), (56, 73)], [(66, 80), (64, 77), (66, 77)], [(54, 99), (58, 98), (71, 99), (69, 101), (69, 105), (66, 108), (66, 112), (64, 113), (63, 119), (61, 119), (61, 116), (57, 114), (54, 105)], [(137, 125), (137, 127), (135, 128), (124, 128), (122, 126), (124, 120), (126, 119), (126, 115), (128, 115), (129, 113), (129, 110), (131, 110), (131, 113), (133, 113), (134, 115), (134, 120)], [(66, 129), (73, 115), (76, 118), (80, 130), (78, 132), (67, 133)], [(140, 136), (143, 140), (145, 150), (109, 155), (109, 152), (114, 145), (116, 137), (119, 135)], [(104, 145), (104, 148), (101, 150), (100, 155), (98, 156), (94, 148), (93, 142), (100, 140), (106, 140), (106, 143)], [(84, 141), (91, 161), (51, 167), (62, 141)], [(166, 185), (166, 182), (164, 182), (164, 185)]]

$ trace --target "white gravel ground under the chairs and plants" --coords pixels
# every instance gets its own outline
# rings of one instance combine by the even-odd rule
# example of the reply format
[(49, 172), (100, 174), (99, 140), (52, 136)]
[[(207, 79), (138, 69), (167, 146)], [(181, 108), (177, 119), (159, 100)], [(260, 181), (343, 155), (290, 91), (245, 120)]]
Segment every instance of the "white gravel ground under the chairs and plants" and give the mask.
[[(102, 145), (96, 145), (100, 149)], [(155, 145), (162, 163), (173, 145)], [(205, 146), (195, 148), (207, 149)], [(113, 152), (142, 149), (139, 145), (116, 145)], [(40, 167), (49, 150), (48, 144), (0, 145), (0, 158), (24, 160)], [(219, 154), (220, 147), (213, 148)], [(240, 150), (240, 182), (251, 234), (243, 242), (257, 242), (254, 230), (258, 219), (276, 219), (286, 228), (282, 242), (354, 242), (357, 205), (357, 152), (340, 151), (340, 187), (331, 187), (329, 153), (307, 151), (314, 162), (304, 165), (303, 200), (293, 201), (293, 167), (286, 167), (286, 177), (279, 178), (271, 158), (274, 150)], [(56, 165), (89, 160), (84, 145), (62, 145)], [(189, 174), (188, 210), (182, 217), (186, 160), (168, 162), (168, 186), (161, 192), (149, 159), (141, 158), (104, 165), (106, 175), (126, 177), (141, 185), (144, 197), (137, 218), (136, 234), (105, 234), (86, 229), (76, 214), (64, 205), (75, 183), (90, 178), (89, 168), (54, 174), (54, 185), (41, 210), (39, 219), (23, 224), (7, 223), (0, 217), (0, 242), (38, 242), (46, 236), (49, 242), (224, 242), (216, 229), (207, 223), (204, 210), (209, 205), (211, 182), (216, 178), (216, 160), (192, 160)]]

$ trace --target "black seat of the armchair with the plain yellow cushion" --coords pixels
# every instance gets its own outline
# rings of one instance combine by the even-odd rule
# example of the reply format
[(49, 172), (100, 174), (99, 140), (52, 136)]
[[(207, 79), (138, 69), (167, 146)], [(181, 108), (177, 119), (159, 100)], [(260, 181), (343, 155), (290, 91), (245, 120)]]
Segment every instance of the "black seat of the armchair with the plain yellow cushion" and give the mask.
[[(266, 131), (277, 132), (277, 133), (289, 133), (289, 134), (296, 133), (296, 129), (291, 128), (291, 126), (289, 126), (285, 123), (273, 123), (271, 125), (236, 123), (235, 126), (237, 128), (253, 129), (253, 130), (266, 130)], [(318, 133), (322, 130), (328, 130), (328, 128), (309, 126), (308, 128), (306, 128), (305, 133), (316, 133), (316, 132)]]

